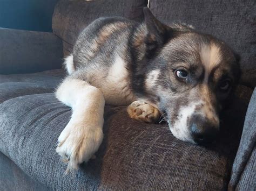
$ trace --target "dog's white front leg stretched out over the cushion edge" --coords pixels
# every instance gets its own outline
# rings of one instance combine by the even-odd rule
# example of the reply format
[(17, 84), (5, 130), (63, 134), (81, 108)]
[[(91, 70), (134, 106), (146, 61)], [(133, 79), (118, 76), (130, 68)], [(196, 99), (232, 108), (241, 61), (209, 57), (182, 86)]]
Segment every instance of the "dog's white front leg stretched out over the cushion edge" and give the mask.
[(69, 169), (77, 169), (98, 150), (103, 139), (102, 92), (89, 83), (68, 78), (56, 91), (58, 100), (72, 108), (71, 119), (58, 138), (57, 153)]

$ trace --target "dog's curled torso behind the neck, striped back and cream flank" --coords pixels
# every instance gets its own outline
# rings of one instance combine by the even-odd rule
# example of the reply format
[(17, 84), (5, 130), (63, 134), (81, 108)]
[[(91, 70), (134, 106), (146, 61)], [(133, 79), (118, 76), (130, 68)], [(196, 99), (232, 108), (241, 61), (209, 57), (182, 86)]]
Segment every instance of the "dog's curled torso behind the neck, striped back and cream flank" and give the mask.
[(99, 18), (80, 33), (73, 52), (65, 59), (70, 76), (83, 79), (103, 91), (109, 104), (130, 104), (128, 64), (130, 41), (138, 23), (125, 18)]

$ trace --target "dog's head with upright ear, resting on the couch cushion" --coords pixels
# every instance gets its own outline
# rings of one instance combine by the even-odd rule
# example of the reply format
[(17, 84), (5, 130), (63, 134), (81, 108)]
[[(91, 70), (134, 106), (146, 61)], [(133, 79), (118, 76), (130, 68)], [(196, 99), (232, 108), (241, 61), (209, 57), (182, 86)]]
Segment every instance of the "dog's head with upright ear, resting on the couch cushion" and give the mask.
[(185, 25), (166, 26), (144, 9), (148, 95), (166, 113), (178, 139), (203, 144), (219, 132), (219, 114), (238, 83), (231, 49)]

